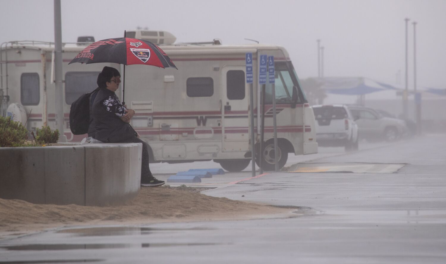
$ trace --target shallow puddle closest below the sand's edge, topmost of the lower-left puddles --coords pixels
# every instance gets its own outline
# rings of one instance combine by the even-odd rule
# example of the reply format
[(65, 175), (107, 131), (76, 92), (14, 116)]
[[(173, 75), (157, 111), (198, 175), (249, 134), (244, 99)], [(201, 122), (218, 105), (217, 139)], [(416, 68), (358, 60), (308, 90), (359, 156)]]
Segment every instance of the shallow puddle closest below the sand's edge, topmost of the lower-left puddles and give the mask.
[(74, 236), (114, 236), (114, 235), (149, 235), (162, 231), (193, 231), (214, 230), (215, 228), (192, 227), (192, 228), (152, 228), (152, 227), (91, 227), (71, 228), (56, 231), (56, 233), (72, 234)]

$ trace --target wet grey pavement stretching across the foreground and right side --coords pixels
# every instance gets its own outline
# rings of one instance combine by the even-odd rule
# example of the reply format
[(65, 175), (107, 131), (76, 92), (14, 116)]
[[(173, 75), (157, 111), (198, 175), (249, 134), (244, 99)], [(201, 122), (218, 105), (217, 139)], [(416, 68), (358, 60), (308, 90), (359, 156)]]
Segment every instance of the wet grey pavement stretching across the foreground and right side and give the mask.
[[(0, 241), (0, 263), (446, 263), (446, 135), (321, 149), (305, 161), (316, 172), (228, 179), (204, 192), (301, 206), (295, 217), (52, 230)], [(318, 172), (345, 164), (401, 168)], [(250, 173), (225, 177), (242, 176)]]

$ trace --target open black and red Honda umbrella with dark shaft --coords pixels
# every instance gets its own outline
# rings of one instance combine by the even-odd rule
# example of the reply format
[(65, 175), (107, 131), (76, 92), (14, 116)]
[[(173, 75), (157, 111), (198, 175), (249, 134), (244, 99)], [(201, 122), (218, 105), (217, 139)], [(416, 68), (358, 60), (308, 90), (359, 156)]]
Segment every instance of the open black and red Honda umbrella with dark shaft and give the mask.
[(124, 64), (122, 104), (124, 104), (125, 65), (142, 64), (177, 69), (160, 47), (150, 41), (129, 37), (108, 38), (91, 43), (68, 64), (74, 62)]

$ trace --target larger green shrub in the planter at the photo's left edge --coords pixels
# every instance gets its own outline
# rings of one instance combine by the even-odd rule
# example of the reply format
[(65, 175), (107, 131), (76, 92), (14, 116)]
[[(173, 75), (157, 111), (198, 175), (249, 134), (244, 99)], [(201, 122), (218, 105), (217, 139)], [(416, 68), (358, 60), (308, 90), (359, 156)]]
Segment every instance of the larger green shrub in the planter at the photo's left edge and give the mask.
[(25, 144), (28, 130), (10, 116), (0, 116), (0, 147), (17, 147)]

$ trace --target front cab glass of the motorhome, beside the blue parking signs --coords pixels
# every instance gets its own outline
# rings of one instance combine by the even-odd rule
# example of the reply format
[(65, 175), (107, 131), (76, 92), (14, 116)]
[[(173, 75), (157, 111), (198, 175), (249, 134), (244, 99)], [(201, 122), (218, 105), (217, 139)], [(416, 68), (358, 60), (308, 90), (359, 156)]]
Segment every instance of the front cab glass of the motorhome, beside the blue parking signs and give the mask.
[[(291, 62), (275, 62), (274, 69), (276, 70), (275, 87), (276, 87), (276, 103), (292, 103), (293, 86), (300, 90), (300, 85), (297, 75), (294, 71)], [(303, 94), (302, 94), (303, 95)], [(273, 86), (266, 83), (265, 87), (265, 104), (271, 104), (273, 97)], [(305, 95), (304, 95), (305, 97)], [(305, 100), (305, 98), (304, 98)], [(302, 102), (301, 95), (298, 94), (298, 102)]]

